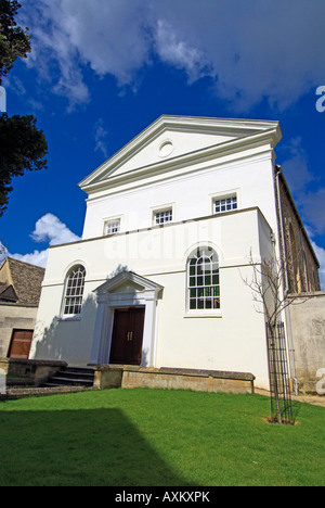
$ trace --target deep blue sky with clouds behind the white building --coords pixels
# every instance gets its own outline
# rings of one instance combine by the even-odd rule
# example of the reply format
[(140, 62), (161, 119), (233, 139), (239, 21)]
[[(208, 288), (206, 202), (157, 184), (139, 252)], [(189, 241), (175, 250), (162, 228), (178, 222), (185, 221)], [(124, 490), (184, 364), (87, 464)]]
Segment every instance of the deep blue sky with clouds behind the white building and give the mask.
[(21, 3), (32, 52), (3, 82), (6, 110), (37, 117), (49, 169), (13, 182), (0, 218), (11, 255), (44, 264), (50, 244), (79, 238), (77, 183), (161, 114), (276, 119), (325, 288), (324, 0)]

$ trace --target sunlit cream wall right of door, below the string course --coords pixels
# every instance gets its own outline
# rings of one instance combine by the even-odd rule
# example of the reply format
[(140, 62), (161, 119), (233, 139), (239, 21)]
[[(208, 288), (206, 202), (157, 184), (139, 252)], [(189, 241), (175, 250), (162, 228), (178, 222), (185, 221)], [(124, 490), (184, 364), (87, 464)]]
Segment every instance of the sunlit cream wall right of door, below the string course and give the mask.
[[(240, 269), (250, 276), (250, 269)], [(185, 314), (186, 274), (156, 277), (166, 287), (159, 303), (157, 367), (251, 372), (268, 388), (263, 316), (253, 308), (238, 268), (220, 270), (221, 317)]]

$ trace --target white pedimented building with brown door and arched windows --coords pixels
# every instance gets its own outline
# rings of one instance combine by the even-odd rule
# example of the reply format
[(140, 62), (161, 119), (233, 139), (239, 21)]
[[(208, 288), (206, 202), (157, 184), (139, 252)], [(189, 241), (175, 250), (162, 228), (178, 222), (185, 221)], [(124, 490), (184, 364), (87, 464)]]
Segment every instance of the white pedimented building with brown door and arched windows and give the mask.
[(296, 220), (284, 291), (320, 289), (281, 137), (277, 122), (162, 116), (86, 178), (83, 237), (50, 250), (30, 358), (251, 372), (268, 388), (250, 256), (292, 257)]

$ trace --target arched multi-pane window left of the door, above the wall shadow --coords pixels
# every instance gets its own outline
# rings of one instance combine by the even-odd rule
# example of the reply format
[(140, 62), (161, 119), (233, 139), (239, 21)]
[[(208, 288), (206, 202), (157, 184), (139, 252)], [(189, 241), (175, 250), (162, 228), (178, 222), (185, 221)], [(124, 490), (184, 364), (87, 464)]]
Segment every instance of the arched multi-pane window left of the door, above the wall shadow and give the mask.
[(86, 269), (82, 265), (74, 266), (66, 278), (63, 314), (72, 316), (81, 314), (82, 296), (84, 290)]

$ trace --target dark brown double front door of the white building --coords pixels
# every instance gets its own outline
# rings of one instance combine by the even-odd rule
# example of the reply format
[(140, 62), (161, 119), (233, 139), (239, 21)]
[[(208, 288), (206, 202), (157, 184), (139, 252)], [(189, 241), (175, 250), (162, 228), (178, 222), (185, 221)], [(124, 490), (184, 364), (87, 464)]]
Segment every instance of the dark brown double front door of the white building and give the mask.
[(110, 364), (141, 364), (144, 313), (144, 307), (117, 308), (115, 310)]

